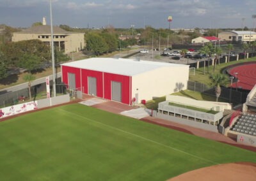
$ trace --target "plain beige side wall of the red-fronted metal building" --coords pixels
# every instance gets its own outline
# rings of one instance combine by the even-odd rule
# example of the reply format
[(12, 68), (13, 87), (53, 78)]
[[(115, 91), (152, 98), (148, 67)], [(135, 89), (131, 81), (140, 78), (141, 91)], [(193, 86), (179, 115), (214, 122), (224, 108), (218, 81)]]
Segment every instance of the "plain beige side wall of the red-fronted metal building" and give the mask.
[(152, 100), (154, 97), (165, 96), (187, 89), (189, 66), (180, 65), (163, 67), (132, 76), (132, 98), (138, 103), (142, 99)]

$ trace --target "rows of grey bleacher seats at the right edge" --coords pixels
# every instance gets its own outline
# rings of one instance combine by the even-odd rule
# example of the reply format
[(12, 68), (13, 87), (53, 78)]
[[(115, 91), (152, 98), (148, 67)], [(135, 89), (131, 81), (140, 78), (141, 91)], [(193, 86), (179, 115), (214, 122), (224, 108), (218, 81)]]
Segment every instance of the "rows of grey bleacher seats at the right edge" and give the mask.
[(256, 114), (242, 113), (230, 130), (256, 136)]

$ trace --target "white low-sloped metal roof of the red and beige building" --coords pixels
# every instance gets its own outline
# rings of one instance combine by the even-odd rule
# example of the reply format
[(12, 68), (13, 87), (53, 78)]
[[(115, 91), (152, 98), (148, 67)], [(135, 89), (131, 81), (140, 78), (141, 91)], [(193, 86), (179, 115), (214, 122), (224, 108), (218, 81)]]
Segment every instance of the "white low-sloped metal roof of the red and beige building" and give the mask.
[(138, 61), (136, 59), (90, 58), (81, 61), (67, 62), (61, 66), (90, 69), (105, 73), (133, 76), (163, 67), (186, 68), (188, 65), (165, 62)]

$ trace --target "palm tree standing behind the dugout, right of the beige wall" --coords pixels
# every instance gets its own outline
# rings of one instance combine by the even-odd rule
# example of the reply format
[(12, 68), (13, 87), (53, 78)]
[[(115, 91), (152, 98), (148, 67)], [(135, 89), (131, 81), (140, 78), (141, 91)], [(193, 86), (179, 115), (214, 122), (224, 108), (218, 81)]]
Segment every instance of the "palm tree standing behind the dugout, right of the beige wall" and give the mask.
[(221, 73), (218, 73), (210, 75), (209, 78), (211, 80), (211, 85), (215, 86), (216, 102), (218, 102), (221, 94), (220, 85), (225, 85), (227, 83), (227, 77)]

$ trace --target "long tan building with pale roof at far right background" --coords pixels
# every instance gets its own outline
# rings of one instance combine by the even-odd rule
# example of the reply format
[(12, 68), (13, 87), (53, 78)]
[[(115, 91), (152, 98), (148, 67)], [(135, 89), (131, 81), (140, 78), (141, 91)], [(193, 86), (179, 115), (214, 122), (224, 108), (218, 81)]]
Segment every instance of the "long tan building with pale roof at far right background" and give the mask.
[(253, 31), (223, 31), (218, 34), (223, 41), (255, 41), (256, 33)]

